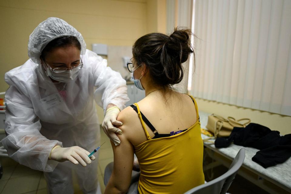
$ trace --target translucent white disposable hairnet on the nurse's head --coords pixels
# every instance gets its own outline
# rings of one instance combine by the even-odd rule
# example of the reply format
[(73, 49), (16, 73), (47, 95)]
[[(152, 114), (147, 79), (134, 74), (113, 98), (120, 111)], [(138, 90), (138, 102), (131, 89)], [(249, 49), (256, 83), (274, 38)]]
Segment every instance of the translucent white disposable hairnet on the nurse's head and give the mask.
[(41, 64), (39, 57), (45, 46), (63, 36), (75, 36), (81, 44), (81, 55), (85, 54), (86, 43), (80, 32), (60, 18), (47, 18), (29, 36), (28, 56), (33, 62)]

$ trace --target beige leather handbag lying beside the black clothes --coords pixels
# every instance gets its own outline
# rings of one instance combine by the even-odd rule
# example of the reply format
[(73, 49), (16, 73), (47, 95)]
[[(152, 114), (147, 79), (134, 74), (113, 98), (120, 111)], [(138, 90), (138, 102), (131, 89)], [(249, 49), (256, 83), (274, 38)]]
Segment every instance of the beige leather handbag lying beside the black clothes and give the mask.
[[(241, 121), (246, 120), (246, 122), (241, 123)], [(228, 137), (233, 129), (233, 127), (246, 127), (247, 124), (251, 122), (251, 119), (234, 119), (233, 117), (227, 117), (227, 119), (222, 116), (212, 114), (208, 116), (208, 122), (206, 128), (214, 134), (214, 137)]]

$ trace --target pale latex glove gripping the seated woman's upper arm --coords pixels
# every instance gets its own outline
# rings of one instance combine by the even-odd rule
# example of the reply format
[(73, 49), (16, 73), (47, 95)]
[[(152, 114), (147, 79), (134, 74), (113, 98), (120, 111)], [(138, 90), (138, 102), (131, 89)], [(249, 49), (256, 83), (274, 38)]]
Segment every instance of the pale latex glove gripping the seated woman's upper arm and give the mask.
[(102, 129), (105, 134), (114, 142), (115, 146), (120, 144), (120, 139), (115, 133), (122, 134), (122, 131), (113, 125), (121, 126), (122, 122), (117, 121), (117, 116), (119, 115), (120, 109), (117, 106), (113, 106), (107, 109), (105, 117), (102, 123)]

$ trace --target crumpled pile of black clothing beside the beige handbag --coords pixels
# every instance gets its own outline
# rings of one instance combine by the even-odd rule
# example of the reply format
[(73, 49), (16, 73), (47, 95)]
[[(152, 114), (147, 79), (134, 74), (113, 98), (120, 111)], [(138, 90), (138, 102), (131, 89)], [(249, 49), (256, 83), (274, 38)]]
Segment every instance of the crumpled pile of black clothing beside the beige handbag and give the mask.
[(229, 137), (215, 140), (215, 147), (226, 148), (232, 142), (259, 149), (252, 160), (264, 168), (283, 163), (291, 156), (291, 134), (281, 136), (280, 132), (256, 123), (250, 123), (246, 128), (234, 127)]

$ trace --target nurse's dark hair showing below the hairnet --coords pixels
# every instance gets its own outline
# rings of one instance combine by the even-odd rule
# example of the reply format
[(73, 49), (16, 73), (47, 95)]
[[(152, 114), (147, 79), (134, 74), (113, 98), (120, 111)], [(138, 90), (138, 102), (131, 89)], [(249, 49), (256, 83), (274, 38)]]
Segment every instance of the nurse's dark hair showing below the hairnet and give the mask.
[(55, 48), (67, 46), (75, 46), (81, 51), (81, 44), (75, 36), (63, 36), (49, 42), (42, 50), (41, 58), (45, 59), (45, 56)]

